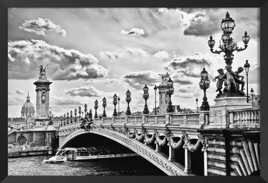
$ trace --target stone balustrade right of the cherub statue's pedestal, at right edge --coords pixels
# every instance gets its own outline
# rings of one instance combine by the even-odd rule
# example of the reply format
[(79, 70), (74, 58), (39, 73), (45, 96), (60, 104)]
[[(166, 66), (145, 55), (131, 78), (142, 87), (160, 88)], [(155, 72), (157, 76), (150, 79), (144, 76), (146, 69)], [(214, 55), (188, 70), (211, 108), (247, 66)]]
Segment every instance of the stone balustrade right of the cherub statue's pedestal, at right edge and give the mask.
[(260, 128), (260, 107), (229, 110), (229, 128)]

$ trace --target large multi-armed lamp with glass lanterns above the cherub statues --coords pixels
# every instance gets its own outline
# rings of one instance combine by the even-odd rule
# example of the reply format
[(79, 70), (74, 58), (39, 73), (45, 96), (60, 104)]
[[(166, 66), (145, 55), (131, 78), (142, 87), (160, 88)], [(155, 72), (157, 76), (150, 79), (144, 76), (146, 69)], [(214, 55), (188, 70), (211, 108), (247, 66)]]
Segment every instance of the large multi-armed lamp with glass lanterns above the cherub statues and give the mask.
[(235, 20), (233, 20), (230, 17), (230, 14), (227, 12), (225, 19), (222, 19), (221, 21), (221, 29), (223, 30), (223, 35), (222, 35), (222, 41), (223, 44), (221, 45), (220, 41), (220, 46), (219, 49), (220, 51), (213, 51), (213, 46), (215, 44), (215, 41), (212, 39), (212, 36), (210, 35), (210, 39), (208, 40), (208, 46), (210, 47), (210, 51), (214, 54), (220, 54), (222, 52), (225, 53), (224, 55), (224, 60), (226, 65), (232, 65), (234, 55), (233, 52), (241, 52), (247, 48), (247, 43), (250, 39), (250, 37), (247, 35), (247, 32), (245, 31), (244, 36), (242, 36), (242, 41), (244, 43), (244, 48), (238, 48), (237, 42), (235, 42), (235, 39), (231, 37), (231, 34), (235, 28)]

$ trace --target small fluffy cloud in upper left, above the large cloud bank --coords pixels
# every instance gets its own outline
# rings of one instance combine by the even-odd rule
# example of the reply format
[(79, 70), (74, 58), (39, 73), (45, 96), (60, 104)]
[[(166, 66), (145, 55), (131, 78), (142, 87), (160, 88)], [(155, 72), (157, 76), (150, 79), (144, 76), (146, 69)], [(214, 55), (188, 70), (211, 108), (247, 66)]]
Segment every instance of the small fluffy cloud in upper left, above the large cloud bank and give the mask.
[(66, 30), (61, 29), (60, 25), (55, 24), (53, 20), (39, 17), (37, 20), (25, 20), (25, 22), (19, 26), (19, 29), (43, 36), (47, 36), (46, 31), (54, 30), (56, 33), (64, 37), (66, 36)]

